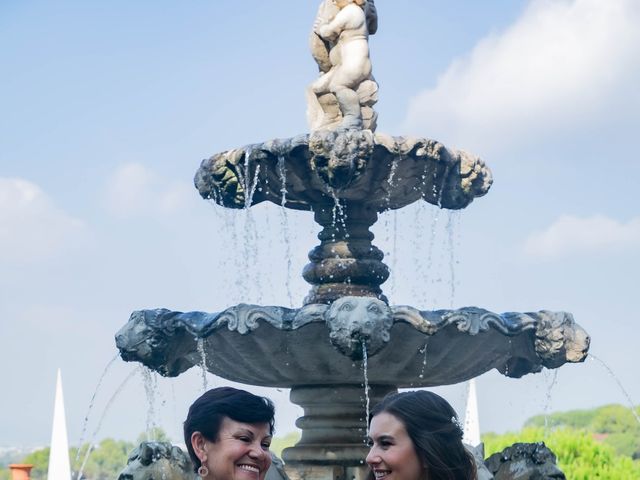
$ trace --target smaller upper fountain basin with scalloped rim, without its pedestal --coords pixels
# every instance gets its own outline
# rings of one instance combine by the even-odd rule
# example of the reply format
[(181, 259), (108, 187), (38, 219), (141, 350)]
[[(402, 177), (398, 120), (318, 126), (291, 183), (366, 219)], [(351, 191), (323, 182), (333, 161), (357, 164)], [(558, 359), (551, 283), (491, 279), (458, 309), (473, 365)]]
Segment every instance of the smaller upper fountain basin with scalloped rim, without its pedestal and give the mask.
[(314, 210), (344, 201), (378, 212), (419, 199), (457, 210), (491, 184), (491, 171), (476, 156), (369, 130), (317, 131), (229, 150), (204, 160), (195, 177), (203, 198), (229, 208), (270, 201)]

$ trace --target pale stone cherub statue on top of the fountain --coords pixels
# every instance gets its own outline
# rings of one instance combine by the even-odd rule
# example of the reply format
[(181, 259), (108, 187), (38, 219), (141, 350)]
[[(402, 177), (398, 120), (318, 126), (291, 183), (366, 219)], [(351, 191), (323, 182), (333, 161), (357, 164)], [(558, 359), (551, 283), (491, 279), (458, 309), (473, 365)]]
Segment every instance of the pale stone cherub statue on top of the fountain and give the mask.
[(375, 130), (378, 84), (371, 74), (369, 35), (378, 28), (374, 0), (324, 0), (311, 32), (320, 76), (308, 88), (312, 131)]

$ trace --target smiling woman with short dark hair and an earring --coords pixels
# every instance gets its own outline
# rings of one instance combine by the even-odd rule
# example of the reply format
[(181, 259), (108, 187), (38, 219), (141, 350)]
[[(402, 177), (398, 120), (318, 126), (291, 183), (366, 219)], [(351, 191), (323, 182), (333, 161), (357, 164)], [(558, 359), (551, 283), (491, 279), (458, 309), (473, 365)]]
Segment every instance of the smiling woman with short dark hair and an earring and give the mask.
[(207, 480), (264, 480), (275, 410), (271, 400), (214, 388), (189, 408), (184, 442), (194, 471)]

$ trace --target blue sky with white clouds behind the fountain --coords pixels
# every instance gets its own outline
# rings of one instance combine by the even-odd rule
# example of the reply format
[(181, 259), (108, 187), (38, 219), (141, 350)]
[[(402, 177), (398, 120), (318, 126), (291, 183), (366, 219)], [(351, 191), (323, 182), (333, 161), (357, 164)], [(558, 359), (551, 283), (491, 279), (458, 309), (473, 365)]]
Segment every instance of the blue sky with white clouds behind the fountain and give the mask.
[[(392, 303), (570, 311), (640, 402), (638, 3), (377, 7), (378, 131), (469, 150), (495, 177), (459, 214), (413, 206), (381, 217), (375, 243), (394, 267), (383, 286)], [(3, 395), (0, 445), (48, 442), (58, 367), (70, 441), (80, 439), (116, 353), (113, 335), (133, 310), (287, 305), (283, 230), (301, 302), (308, 286), (299, 272), (317, 243), (310, 216), (292, 212), (285, 224), (277, 208), (256, 207), (253, 245), (246, 215), (200, 200), (192, 178), (216, 152), (307, 130), (316, 8), (300, 0), (2, 2), (0, 360), (3, 384), (16, 390)], [(89, 437), (134, 369), (112, 364)], [(152, 421), (179, 440), (200, 372), (156, 384), (154, 418), (136, 374), (97, 437), (133, 439)], [(287, 392), (256, 391), (276, 399), (278, 430), (293, 429), (298, 410)], [(463, 410), (464, 386), (438, 391)], [(595, 361), (566, 366), (557, 379), (489, 373), (478, 396), (481, 427), (493, 431), (544, 411), (626, 401)]]

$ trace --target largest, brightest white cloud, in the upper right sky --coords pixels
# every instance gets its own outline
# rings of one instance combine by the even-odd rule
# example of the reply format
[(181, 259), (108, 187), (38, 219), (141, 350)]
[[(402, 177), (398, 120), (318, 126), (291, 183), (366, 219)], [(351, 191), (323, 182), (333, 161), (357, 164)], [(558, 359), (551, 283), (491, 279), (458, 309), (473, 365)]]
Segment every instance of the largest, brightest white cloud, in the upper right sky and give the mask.
[(406, 128), (475, 146), (635, 116), (640, 2), (532, 0), (412, 100)]

